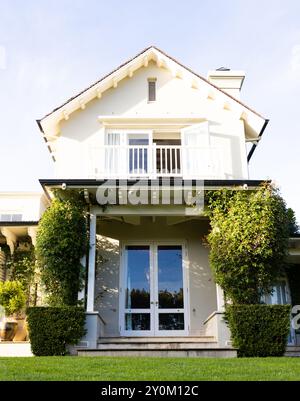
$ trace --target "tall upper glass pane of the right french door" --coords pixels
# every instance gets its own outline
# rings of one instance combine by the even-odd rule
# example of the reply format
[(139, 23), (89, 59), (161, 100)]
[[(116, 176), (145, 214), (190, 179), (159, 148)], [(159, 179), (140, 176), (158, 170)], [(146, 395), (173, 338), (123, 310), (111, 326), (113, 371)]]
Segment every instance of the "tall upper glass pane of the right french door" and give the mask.
[(159, 308), (183, 308), (182, 247), (158, 247)]

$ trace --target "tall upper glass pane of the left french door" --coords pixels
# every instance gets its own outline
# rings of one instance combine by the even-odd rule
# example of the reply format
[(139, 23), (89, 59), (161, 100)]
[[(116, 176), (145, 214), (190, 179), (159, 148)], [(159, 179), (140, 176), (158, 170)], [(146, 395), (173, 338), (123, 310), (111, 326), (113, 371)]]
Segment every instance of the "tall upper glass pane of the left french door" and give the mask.
[(127, 246), (126, 309), (150, 308), (150, 248)]

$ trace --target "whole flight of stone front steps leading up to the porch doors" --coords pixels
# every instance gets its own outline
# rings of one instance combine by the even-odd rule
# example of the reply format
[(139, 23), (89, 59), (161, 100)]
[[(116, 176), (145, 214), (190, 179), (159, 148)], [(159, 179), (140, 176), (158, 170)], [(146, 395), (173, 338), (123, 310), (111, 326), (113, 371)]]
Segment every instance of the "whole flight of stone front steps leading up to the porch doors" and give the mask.
[(78, 356), (236, 357), (236, 350), (219, 348), (214, 337), (106, 337), (96, 349), (77, 350)]

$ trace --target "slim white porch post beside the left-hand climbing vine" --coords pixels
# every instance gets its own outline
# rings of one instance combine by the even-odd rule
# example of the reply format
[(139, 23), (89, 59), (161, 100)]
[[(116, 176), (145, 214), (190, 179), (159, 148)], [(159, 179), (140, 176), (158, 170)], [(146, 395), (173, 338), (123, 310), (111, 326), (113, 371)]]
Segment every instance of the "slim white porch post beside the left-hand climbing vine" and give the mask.
[(96, 273), (96, 215), (90, 215), (90, 250), (87, 282), (87, 312), (94, 312)]

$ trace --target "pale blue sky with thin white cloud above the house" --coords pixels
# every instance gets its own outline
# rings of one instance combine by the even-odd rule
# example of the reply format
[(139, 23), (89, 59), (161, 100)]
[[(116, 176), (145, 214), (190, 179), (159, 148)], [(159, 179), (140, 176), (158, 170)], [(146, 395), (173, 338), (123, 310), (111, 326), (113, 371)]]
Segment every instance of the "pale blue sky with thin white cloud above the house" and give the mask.
[(251, 178), (300, 220), (299, 0), (0, 0), (0, 191), (53, 177), (35, 120), (151, 44), (204, 76), (246, 71), (242, 100), (270, 119)]

